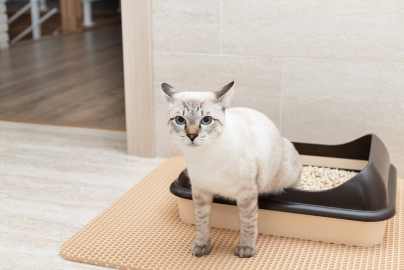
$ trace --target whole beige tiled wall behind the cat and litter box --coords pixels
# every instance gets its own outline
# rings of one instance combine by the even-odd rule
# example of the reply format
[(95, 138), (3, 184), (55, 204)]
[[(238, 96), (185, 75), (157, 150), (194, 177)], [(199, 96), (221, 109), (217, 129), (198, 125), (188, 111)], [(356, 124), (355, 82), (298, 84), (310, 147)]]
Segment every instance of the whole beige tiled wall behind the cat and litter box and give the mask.
[(156, 154), (160, 85), (215, 90), (265, 113), (294, 141), (375, 133), (404, 177), (404, 1), (152, 0)]

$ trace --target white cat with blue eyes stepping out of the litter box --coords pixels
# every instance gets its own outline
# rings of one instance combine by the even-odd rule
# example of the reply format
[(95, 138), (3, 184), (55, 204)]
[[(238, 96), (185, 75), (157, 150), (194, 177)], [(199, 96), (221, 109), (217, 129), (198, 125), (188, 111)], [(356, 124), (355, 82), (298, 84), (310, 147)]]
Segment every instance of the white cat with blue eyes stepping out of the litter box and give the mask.
[(228, 108), (233, 84), (215, 92), (178, 92), (162, 84), (170, 134), (191, 180), (197, 231), (191, 251), (197, 257), (210, 252), (213, 194), (236, 201), (241, 237), (234, 255), (249, 258), (255, 254), (258, 194), (300, 185), (300, 156), (273, 122), (252, 109)]

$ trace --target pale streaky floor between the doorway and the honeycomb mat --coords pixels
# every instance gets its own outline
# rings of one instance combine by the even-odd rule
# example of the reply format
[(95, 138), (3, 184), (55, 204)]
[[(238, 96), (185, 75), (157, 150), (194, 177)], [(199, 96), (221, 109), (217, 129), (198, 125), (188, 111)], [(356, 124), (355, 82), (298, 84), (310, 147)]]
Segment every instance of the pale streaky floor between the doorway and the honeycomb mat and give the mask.
[(119, 131), (0, 121), (1, 269), (106, 269), (59, 247), (164, 158), (126, 155)]

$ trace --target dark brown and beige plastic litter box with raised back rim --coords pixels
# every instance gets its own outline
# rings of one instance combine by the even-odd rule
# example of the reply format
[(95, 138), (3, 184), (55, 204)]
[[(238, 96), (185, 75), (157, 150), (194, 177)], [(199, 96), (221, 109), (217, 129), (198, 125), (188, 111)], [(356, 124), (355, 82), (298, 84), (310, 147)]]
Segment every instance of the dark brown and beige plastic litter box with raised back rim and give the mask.
[[(358, 171), (331, 189), (285, 189), (258, 198), (258, 233), (370, 247), (380, 244), (387, 220), (396, 214), (397, 171), (380, 138), (365, 135), (348, 143), (293, 142), (303, 165)], [(186, 171), (171, 184), (181, 220), (195, 224), (191, 184)], [(239, 230), (234, 201), (213, 197), (210, 226)]]

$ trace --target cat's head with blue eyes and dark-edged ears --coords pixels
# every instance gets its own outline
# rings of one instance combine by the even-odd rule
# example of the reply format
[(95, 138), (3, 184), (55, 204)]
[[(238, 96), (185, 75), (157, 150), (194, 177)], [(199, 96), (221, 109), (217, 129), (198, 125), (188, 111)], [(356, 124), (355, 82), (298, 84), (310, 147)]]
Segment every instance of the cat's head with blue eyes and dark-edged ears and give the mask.
[(214, 144), (225, 125), (225, 109), (230, 104), (234, 82), (215, 92), (178, 92), (164, 83), (163, 97), (169, 105), (167, 122), (172, 140), (184, 147)]

